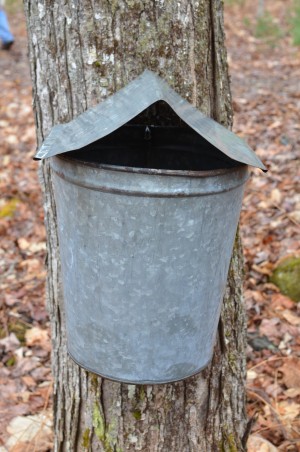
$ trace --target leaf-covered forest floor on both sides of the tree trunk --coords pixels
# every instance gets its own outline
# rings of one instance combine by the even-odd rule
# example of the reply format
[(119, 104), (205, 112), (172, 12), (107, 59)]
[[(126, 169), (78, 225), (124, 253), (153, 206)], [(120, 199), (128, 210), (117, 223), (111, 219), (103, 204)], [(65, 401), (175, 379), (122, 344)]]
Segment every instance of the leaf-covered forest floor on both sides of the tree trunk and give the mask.
[[(258, 38), (255, 2), (225, 2), (234, 131), (269, 169), (252, 172), (241, 218), (247, 408), (253, 418), (249, 450), (300, 451), (299, 308), (269, 281), (282, 258), (299, 255), (300, 47), (288, 32), (292, 2), (266, 3), (275, 26), (267, 24)], [(38, 164), (32, 160), (35, 129), (22, 12), (12, 11), (10, 22), (16, 42), (9, 52), (0, 50), (0, 452), (46, 452), (52, 382), (45, 230)]]

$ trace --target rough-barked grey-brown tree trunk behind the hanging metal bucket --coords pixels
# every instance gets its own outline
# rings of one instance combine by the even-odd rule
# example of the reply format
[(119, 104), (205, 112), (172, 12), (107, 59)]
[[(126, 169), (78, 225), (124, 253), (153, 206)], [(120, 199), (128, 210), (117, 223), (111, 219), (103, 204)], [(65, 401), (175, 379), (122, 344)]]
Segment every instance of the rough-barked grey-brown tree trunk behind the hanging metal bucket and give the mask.
[[(221, 0), (25, 0), (38, 143), (145, 68), (230, 127)], [(185, 381), (101, 379), (67, 355), (55, 201), (41, 165), (48, 231), (55, 451), (242, 451), (245, 314), (237, 239), (211, 365)]]

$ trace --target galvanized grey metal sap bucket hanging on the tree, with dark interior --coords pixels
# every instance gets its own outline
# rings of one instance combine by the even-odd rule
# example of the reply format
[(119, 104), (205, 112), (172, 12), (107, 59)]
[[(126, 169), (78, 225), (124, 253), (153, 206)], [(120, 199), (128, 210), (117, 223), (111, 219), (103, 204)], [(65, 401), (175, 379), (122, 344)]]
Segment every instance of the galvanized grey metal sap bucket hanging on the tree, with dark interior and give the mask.
[(144, 129), (51, 158), (69, 353), (133, 384), (211, 360), (248, 178), (192, 130), (147, 128), (149, 153)]

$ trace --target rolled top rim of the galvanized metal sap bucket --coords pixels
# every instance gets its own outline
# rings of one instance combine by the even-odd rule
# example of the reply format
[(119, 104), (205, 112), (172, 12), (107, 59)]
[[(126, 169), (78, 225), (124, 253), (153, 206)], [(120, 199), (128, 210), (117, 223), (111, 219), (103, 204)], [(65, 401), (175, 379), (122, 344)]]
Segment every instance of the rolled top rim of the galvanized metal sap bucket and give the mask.
[(89, 162), (86, 160), (77, 159), (69, 156), (68, 152), (64, 154), (56, 155), (57, 159), (66, 160), (67, 162), (76, 162), (77, 165), (83, 167), (103, 169), (107, 171), (119, 171), (122, 173), (135, 173), (135, 174), (146, 174), (148, 176), (178, 176), (178, 177), (193, 177), (193, 178), (204, 178), (204, 177), (217, 177), (224, 174), (234, 173), (242, 168), (246, 169), (248, 165), (246, 163), (240, 163), (233, 166), (232, 168), (219, 168), (215, 170), (204, 170), (204, 171), (189, 171), (189, 170), (170, 170), (170, 169), (156, 169), (156, 168), (140, 168), (134, 166), (120, 166), (120, 165), (109, 165), (103, 163)]

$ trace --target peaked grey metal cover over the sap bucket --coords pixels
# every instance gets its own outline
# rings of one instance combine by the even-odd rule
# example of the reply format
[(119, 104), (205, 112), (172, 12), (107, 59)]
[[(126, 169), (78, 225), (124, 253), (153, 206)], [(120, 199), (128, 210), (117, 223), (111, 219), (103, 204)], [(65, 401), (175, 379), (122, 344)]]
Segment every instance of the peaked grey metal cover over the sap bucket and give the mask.
[(266, 171), (244, 140), (205, 116), (149, 70), (69, 123), (54, 126), (35, 159), (53, 157), (93, 143), (160, 100), (165, 101), (187, 125), (228, 157)]

